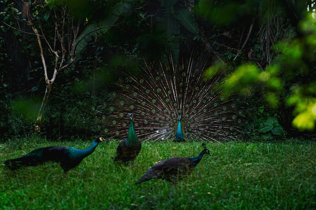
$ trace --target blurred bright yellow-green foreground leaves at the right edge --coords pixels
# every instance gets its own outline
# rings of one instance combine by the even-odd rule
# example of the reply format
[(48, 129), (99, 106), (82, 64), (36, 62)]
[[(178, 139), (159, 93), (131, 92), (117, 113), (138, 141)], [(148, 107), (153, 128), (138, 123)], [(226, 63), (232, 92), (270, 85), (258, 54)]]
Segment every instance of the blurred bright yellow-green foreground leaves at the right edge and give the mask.
[[(225, 78), (222, 94), (226, 96), (239, 92), (256, 97), (256, 91), (263, 92), (264, 94), (260, 95), (265, 97), (265, 103), (270, 107), (280, 108), (281, 120), (287, 121), (288, 117), (296, 129), (314, 131), (314, 22), (310, 13), (299, 23), (300, 37), (287, 39), (285, 34), (284, 39), (274, 46), (279, 54), (266, 67), (260, 69), (251, 63), (238, 65), (234, 72)], [(289, 110), (288, 107), (293, 108), (292, 113), (284, 112), (286, 109)]]

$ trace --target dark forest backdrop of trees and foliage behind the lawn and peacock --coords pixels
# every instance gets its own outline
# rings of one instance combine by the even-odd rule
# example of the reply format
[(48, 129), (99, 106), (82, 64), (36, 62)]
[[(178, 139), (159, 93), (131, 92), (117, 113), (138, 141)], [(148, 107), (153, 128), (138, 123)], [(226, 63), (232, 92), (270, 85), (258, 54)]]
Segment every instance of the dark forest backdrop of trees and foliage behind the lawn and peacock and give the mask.
[(95, 109), (117, 73), (138, 69), (143, 55), (155, 58), (166, 49), (205, 52), (221, 63), (228, 81), (240, 79), (227, 91), (247, 95), (249, 139), (314, 137), (311, 0), (4, 0), (0, 7), (2, 142), (33, 133), (95, 135)]

